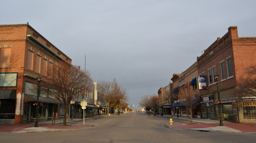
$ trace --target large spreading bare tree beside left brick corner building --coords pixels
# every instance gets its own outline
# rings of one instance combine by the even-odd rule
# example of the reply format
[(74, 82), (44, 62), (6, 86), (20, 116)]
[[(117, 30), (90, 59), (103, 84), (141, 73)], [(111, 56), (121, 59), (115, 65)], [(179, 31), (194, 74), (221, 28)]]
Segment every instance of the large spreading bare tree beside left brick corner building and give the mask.
[(59, 63), (52, 70), (48, 70), (47, 75), (51, 76), (43, 79), (40, 92), (59, 103), (64, 108), (63, 126), (66, 126), (66, 115), (69, 105), (75, 97), (82, 96), (85, 91), (91, 91), (93, 81), (88, 71), (80, 70), (79, 66), (68, 63)]

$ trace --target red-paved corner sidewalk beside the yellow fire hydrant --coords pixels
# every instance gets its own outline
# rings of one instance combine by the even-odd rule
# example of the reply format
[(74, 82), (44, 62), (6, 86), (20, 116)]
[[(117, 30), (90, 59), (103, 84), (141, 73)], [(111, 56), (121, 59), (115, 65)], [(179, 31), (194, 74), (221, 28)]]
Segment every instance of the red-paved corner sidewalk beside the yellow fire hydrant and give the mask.
[(219, 120), (212, 119), (201, 119), (201, 118), (192, 118), (192, 123), (190, 124), (190, 119), (184, 116), (171, 116), (164, 115), (165, 117), (170, 117), (174, 119), (182, 119), (188, 122), (185, 123), (174, 123), (172, 125), (168, 124), (166, 126), (175, 128), (175, 129), (186, 129), (186, 130), (198, 130), (203, 132), (208, 131), (218, 131), (218, 132), (233, 132), (233, 133), (245, 133), (245, 132), (254, 132), (256, 133), (256, 123), (236, 123), (236, 122), (227, 122), (223, 121), (223, 126), (220, 126)]

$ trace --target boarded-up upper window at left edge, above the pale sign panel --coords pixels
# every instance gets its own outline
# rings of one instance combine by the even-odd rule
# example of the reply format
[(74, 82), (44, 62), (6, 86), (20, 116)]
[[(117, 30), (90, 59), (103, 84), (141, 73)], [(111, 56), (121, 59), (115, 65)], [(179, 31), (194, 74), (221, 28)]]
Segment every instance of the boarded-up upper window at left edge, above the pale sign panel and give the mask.
[(11, 48), (0, 48), (0, 67), (10, 67)]

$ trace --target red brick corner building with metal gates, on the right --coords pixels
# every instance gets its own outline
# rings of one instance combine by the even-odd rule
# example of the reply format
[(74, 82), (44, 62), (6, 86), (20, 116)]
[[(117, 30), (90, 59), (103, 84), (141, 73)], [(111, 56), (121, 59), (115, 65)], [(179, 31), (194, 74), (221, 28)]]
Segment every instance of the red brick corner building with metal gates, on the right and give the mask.
[(202, 118), (219, 120), (217, 81), (219, 75), (220, 100), (223, 120), (256, 122), (254, 106), (243, 103), (255, 102), (255, 97), (237, 97), (232, 93), (245, 77), (245, 69), (256, 64), (256, 37), (238, 37), (237, 26), (230, 26), (228, 32), (218, 37), (204, 53), (197, 57), (198, 74), (206, 76), (207, 88), (199, 91)]

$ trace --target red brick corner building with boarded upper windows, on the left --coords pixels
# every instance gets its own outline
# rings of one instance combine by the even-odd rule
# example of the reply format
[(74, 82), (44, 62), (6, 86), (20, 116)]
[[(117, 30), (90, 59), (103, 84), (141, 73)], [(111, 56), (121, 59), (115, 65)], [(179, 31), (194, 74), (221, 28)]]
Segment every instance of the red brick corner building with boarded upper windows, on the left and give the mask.
[[(0, 25), (0, 122), (35, 121), (36, 95), (29, 87), (58, 62), (71, 59), (29, 24)], [(50, 99), (40, 96), (39, 102), (39, 121), (61, 115)]]

